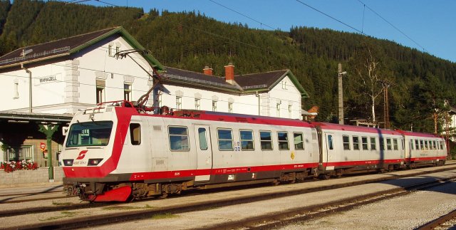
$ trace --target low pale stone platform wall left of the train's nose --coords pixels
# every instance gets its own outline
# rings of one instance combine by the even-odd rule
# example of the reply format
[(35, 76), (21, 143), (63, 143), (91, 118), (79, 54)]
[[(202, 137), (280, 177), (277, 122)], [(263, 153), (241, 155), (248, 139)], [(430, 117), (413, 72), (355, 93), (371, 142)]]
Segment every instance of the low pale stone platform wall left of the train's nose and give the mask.
[[(62, 167), (54, 167), (54, 182), (62, 182)], [(4, 172), (0, 170), (0, 186), (26, 186), (27, 184), (40, 184), (49, 182), (49, 168), (41, 167), (36, 170), (17, 170)]]

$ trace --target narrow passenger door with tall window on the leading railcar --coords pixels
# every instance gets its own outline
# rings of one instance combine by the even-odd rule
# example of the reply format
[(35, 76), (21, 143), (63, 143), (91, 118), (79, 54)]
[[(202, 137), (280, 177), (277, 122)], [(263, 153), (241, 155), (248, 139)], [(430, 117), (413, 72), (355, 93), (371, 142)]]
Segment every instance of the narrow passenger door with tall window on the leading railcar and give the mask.
[(212, 147), (209, 125), (194, 125), (197, 147), (195, 182), (209, 182), (212, 169)]

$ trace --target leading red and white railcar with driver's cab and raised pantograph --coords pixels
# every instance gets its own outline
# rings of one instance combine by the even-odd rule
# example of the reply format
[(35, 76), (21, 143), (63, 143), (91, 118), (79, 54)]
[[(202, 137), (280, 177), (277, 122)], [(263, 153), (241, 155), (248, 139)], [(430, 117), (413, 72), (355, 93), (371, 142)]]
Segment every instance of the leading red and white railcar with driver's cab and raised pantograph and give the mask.
[(280, 182), (316, 175), (318, 140), (300, 120), (177, 111), (128, 102), (76, 113), (62, 152), (68, 191), (125, 201), (193, 187)]

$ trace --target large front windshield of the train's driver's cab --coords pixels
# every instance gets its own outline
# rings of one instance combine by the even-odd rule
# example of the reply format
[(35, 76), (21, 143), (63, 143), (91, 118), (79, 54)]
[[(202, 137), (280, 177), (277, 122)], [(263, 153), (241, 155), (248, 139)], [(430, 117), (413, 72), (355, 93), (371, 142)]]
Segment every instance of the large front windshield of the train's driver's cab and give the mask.
[(71, 125), (66, 147), (106, 146), (113, 130), (112, 121), (81, 122)]

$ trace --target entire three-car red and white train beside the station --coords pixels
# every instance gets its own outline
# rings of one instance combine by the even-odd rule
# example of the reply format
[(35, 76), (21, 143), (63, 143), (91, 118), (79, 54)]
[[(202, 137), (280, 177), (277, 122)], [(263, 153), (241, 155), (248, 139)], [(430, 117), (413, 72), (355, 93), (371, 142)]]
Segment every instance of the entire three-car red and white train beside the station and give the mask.
[(128, 101), (79, 110), (61, 152), (70, 195), (89, 202), (188, 189), (297, 182), (445, 164), (437, 135), (279, 117), (155, 110)]

